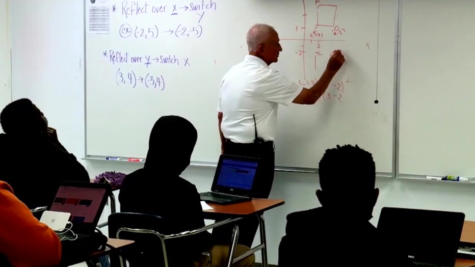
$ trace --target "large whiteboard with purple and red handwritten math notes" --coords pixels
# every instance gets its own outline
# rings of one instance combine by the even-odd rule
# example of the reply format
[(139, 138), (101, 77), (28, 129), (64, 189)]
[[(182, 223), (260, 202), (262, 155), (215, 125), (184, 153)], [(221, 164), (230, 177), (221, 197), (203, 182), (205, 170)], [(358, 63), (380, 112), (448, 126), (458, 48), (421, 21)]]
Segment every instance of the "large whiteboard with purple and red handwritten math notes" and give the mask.
[(246, 32), (259, 22), (281, 39), (271, 67), (307, 87), (332, 50), (347, 58), (317, 104), (280, 106), (276, 166), (317, 168), (325, 149), (349, 143), (391, 172), (397, 2), (237, 3), (85, 2), (87, 156), (145, 158), (154, 122), (174, 114), (198, 130), (192, 161), (216, 163), (221, 78), (244, 59)]

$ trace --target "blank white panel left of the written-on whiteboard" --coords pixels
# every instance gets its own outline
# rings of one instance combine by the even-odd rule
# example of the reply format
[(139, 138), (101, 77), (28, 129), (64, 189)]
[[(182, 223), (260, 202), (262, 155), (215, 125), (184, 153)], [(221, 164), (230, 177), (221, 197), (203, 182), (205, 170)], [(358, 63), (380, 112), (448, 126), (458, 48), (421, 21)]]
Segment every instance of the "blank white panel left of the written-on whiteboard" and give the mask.
[(81, 158), (84, 1), (15, 0), (9, 4), (12, 99), (31, 99), (57, 130), (63, 146)]

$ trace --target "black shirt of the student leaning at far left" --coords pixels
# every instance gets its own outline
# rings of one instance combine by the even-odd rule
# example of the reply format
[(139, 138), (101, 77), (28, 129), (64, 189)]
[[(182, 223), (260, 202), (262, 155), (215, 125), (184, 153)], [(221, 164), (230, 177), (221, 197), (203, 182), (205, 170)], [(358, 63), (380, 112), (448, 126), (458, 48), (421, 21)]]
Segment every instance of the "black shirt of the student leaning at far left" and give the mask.
[(61, 181), (89, 182), (89, 174), (61, 144), (44, 137), (0, 134), (0, 180), (30, 209), (48, 206)]

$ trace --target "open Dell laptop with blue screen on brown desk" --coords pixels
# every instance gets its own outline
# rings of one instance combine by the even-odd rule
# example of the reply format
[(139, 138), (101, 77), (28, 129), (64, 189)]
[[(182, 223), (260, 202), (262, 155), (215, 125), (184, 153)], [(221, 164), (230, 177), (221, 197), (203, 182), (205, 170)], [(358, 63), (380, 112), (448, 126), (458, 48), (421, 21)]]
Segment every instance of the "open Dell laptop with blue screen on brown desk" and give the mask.
[(221, 155), (211, 192), (200, 193), (201, 200), (223, 205), (250, 201), (252, 187), (259, 173), (259, 158)]

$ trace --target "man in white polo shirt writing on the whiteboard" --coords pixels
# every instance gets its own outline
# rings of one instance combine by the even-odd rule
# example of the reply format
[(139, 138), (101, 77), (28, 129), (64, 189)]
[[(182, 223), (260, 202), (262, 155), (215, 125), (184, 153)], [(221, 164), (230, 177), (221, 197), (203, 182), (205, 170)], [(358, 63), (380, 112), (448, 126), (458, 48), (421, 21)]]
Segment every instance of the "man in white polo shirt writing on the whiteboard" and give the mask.
[[(268, 198), (274, 180), (274, 139), (278, 104), (314, 104), (345, 62), (340, 50), (310, 88), (302, 88), (269, 67), (277, 62), (282, 47), (279, 35), (267, 24), (254, 24), (246, 36), (249, 55), (224, 75), (218, 101), (221, 152), (258, 157), (262, 172), (254, 182), (252, 197)], [(298, 118), (296, 118), (298, 119)], [(241, 220), (240, 244), (251, 247), (257, 220)]]

